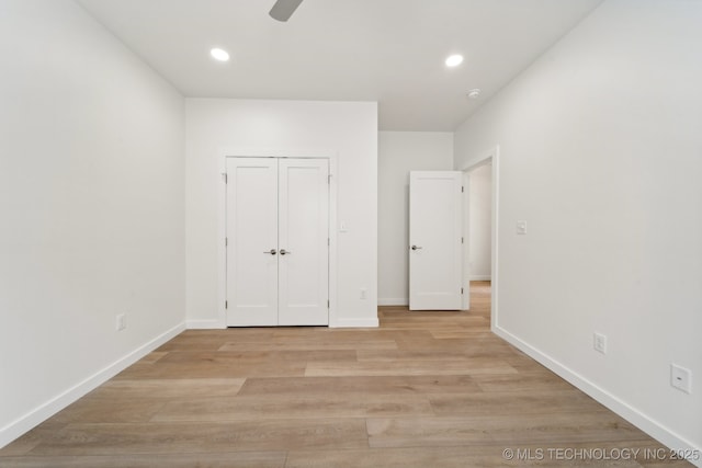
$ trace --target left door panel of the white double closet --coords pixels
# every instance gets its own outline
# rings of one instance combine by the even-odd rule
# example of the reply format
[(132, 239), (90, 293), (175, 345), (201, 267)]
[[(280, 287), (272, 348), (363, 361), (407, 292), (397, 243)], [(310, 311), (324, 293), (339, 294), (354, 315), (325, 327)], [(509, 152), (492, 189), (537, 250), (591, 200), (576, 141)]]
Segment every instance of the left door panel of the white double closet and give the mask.
[(278, 160), (227, 159), (227, 326), (278, 324)]

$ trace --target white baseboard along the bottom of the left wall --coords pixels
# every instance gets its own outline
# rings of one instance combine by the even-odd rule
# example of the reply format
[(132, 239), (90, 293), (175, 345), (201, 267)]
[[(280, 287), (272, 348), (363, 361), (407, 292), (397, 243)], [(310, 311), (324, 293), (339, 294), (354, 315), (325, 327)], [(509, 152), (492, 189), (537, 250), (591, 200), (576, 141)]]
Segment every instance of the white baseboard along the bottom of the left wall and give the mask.
[(52, 398), (47, 402), (41, 404), (18, 420), (11, 422), (4, 427), (0, 429), (0, 448), (8, 445), (10, 442), (20, 437), (22, 434), (30, 431), (32, 427), (35, 427), (39, 423), (46, 421), (64, 408), (68, 407), (70, 403), (75, 402), (79, 398), (86, 396), (88, 392), (94, 390), (105, 381), (110, 380), (112, 377), (129, 367), (132, 364), (139, 361), (141, 357), (149, 354), (151, 351), (159, 347), (161, 344), (174, 338), (177, 334), (185, 330), (185, 323), (180, 323), (172, 329), (161, 333), (156, 336), (154, 340), (143, 344), (136, 350), (132, 351), (124, 357), (115, 361), (110, 364), (107, 367), (102, 370), (97, 372), (92, 376), (86, 378), (84, 380), (76, 384), (73, 387), (68, 390), (57, 395)]

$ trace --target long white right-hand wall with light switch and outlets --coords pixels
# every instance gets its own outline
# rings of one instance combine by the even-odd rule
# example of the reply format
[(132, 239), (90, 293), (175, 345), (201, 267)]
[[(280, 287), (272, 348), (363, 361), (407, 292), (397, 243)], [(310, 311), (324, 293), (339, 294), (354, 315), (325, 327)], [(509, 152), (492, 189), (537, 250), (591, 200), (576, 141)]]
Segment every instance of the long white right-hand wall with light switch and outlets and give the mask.
[[(700, 24), (702, 2), (607, 1), (455, 138), (457, 168), (500, 146), (497, 331), (698, 449)], [(671, 362), (692, 370), (693, 395), (670, 387)]]

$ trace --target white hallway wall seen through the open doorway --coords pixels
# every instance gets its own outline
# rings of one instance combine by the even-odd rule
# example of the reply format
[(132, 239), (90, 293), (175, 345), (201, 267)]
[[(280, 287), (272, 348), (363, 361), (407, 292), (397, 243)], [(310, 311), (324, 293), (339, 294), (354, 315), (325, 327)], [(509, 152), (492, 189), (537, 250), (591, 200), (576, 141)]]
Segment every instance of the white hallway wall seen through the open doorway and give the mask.
[(468, 222), (468, 252), (471, 279), (491, 278), (491, 199), (492, 165), (480, 165), (468, 173), (471, 215)]

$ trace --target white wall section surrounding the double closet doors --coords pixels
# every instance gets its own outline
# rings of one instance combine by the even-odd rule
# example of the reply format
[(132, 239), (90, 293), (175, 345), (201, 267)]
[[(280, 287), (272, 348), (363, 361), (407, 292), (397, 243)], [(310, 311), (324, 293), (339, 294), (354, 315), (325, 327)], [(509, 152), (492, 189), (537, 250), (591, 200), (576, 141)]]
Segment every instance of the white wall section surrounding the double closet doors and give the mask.
[[(218, 317), (217, 193), (225, 148), (338, 155), (337, 213), (348, 231), (338, 233), (338, 320), (330, 324), (377, 326), (377, 104), (188, 99), (185, 105), (190, 326), (224, 326)], [(362, 288), (366, 299), (361, 299)]]

